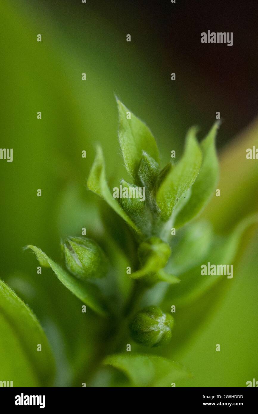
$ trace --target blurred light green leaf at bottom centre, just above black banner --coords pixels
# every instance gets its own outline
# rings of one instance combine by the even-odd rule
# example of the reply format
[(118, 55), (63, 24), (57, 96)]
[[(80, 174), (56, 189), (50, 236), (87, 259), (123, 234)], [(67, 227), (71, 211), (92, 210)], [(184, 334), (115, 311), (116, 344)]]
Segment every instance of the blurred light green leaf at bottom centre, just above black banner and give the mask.
[(133, 387), (171, 387), (176, 380), (191, 377), (186, 368), (156, 355), (110, 355), (104, 364), (125, 373)]

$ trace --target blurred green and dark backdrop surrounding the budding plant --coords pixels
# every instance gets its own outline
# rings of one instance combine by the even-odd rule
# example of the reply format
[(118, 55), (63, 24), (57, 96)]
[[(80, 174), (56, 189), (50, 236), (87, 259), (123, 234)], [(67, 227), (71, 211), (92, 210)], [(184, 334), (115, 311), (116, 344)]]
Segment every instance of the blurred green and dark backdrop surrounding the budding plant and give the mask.
[[(0, 161), (0, 277), (41, 321), (58, 361), (55, 385), (75, 385), (91, 363), (95, 320), (89, 313), (86, 327), (77, 299), (51, 271), (38, 275), (22, 248), (34, 244), (59, 260), (61, 237), (82, 227), (102, 234), (96, 197), (85, 183), (96, 142), (110, 184), (127, 177), (115, 94), (149, 125), (163, 165), (172, 149), (181, 154), (191, 125), (203, 137), (220, 111), (221, 197), (204, 216), (226, 233), (256, 211), (258, 161), (246, 160), (246, 148), (258, 146), (257, 15), (251, 0), (1, 1), (0, 147), (13, 148), (14, 159)], [(234, 45), (200, 43), (208, 29), (233, 31)], [(257, 378), (257, 267), (258, 235), (251, 229), (227, 296), (173, 354), (194, 373), (178, 386), (243, 387)], [(217, 343), (221, 352), (214, 351)], [(17, 381), (33, 385), (26, 372)]]

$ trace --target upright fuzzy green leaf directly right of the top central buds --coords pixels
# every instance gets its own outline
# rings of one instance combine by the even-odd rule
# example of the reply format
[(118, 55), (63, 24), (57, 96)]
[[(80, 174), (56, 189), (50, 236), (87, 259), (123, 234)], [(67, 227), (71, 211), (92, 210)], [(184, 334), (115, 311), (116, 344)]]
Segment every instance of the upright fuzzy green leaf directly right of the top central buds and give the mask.
[(157, 204), (162, 219), (168, 220), (180, 197), (193, 185), (198, 176), (202, 152), (196, 140), (196, 128), (191, 128), (186, 137), (184, 154), (177, 164), (170, 164), (157, 192)]

